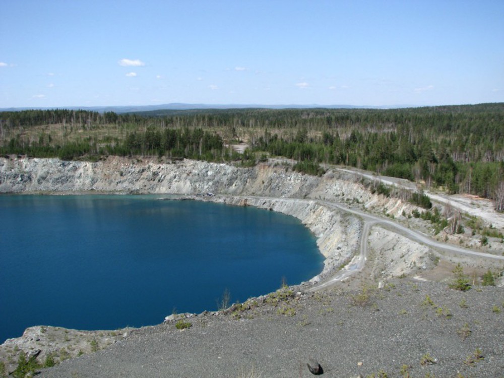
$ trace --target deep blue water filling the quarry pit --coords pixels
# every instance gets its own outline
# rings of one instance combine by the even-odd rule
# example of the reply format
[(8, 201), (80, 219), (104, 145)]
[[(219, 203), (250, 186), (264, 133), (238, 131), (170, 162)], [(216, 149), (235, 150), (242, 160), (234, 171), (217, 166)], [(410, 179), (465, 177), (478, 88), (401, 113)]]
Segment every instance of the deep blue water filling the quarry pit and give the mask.
[(299, 220), (155, 196), (0, 196), (0, 343), (26, 327), (117, 329), (317, 275)]

